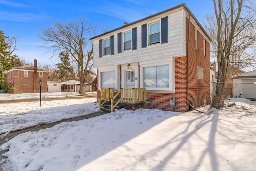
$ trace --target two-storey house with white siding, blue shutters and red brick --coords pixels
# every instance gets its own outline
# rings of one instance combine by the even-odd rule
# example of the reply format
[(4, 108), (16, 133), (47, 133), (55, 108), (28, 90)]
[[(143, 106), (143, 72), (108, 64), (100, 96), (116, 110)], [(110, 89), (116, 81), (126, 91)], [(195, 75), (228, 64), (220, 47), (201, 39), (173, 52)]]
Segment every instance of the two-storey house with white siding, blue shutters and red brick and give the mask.
[(170, 98), (180, 112), (210, 102), (211, 38), (185, 3), (90, 40), (97, 97), (103, 87), (145, 87), (150, 108), (170, 111)]

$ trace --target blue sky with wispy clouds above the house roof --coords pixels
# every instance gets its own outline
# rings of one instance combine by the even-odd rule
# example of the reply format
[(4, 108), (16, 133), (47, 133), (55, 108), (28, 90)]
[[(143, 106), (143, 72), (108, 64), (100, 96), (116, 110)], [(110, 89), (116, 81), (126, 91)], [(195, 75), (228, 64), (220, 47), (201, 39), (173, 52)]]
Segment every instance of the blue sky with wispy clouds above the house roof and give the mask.
[(50, 60), (50, 54), (40, 48), (42, 41), (38, 34), (52, 26), (52, 21), (67, 22), (79, 18), (88, 19), (108, 31), (172, 8), (185, 2), (188, 8), (202, 24), (206, 14), (214, 12), (212, 0), (0, 0), (0, 29), (5, 36), (18, 38), (19, 50), (14, 53), (34, 63), (34, 59), (43, 66), (53, 66), (57, 57)]

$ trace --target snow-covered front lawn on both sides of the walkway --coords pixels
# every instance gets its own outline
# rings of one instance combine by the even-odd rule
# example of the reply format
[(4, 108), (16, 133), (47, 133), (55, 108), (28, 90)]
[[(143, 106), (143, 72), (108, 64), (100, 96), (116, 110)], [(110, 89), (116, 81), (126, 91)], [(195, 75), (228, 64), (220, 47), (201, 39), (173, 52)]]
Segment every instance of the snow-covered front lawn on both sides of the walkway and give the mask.
[[(0, 96), (1, 97), (1, 96)], [(0, 104), (2, 136), (97, 110), (96, 98)], [(250, 104), (248, 104), (250, 102)], [(236, 103), (227, 107), (229, 103)], [(27, 132), (0, 147), (6, 171), (255, 171), (256, 102), (187, 113), (116, 110)]]

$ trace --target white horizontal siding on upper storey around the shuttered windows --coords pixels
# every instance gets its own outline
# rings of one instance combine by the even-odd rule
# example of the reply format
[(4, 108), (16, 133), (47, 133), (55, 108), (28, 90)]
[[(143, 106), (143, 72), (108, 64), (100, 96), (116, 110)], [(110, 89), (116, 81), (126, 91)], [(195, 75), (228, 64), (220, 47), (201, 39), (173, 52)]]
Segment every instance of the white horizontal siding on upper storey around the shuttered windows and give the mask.
[[(151, 24), (152, 20), (159, 21), (163, 16), (168, 16), (168, 43), (150, 45), (146, 48), (141, 48), (141, 26), (143, 24)], [(154, 24), (154, 23), (153, 23)], [(168, 57), (180, 57), (186, 56), (186, 15), (183, 14), (183, 10), (174, 11), (172, 13), (156, 16), (143, 22), (134, 24), (126, 28), (132, 30), (137, 27), (137, 50), (127, 50), (122, 53), (115, 53), (108, 58), (94, 58), (94, 68), (102, 68), (105, 66), (115, 66), (120, 64), (129, 64), (132, 62), (141, 62), (146, 60), (154, 60)], [(147, 26), (148, 27), (148, 26)], [(117, 34), (124, 32), (125, 30), (116, 30), (109, 35), (104, 35), (93, 41), (93, 47), (95, 49), (94, 56), (99, 56), (99, 40), (107, 38), (114, 34), (117, 38)], [(149, 32), (147, 33), (149, 34)], [(123, 34), (122, 34), (123, 36)], [(123, 39), (123, 38), (122, 38)], [(148, 42), (149, 40), (147, 40)], [(123, 47), (123, 45), (122, 45)], [(103, 46), (104, 48), (104, 46)], [(114, 41), (114, 51), (118, 52), (118, 41)]]

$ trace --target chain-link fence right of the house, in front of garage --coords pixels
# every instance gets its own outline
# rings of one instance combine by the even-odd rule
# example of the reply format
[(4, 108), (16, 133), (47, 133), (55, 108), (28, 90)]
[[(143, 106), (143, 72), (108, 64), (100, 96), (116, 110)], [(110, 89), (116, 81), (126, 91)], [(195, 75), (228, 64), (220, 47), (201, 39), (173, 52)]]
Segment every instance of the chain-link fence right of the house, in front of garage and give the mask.
[(214, 96), (218, 95), (221, 95), (221, 99), (218, 99), (222, 102), (221, 107), (232, 107), (234, 111), (256, 113), (256, 85), (254, 83), (214, 82), (212, 102)]

